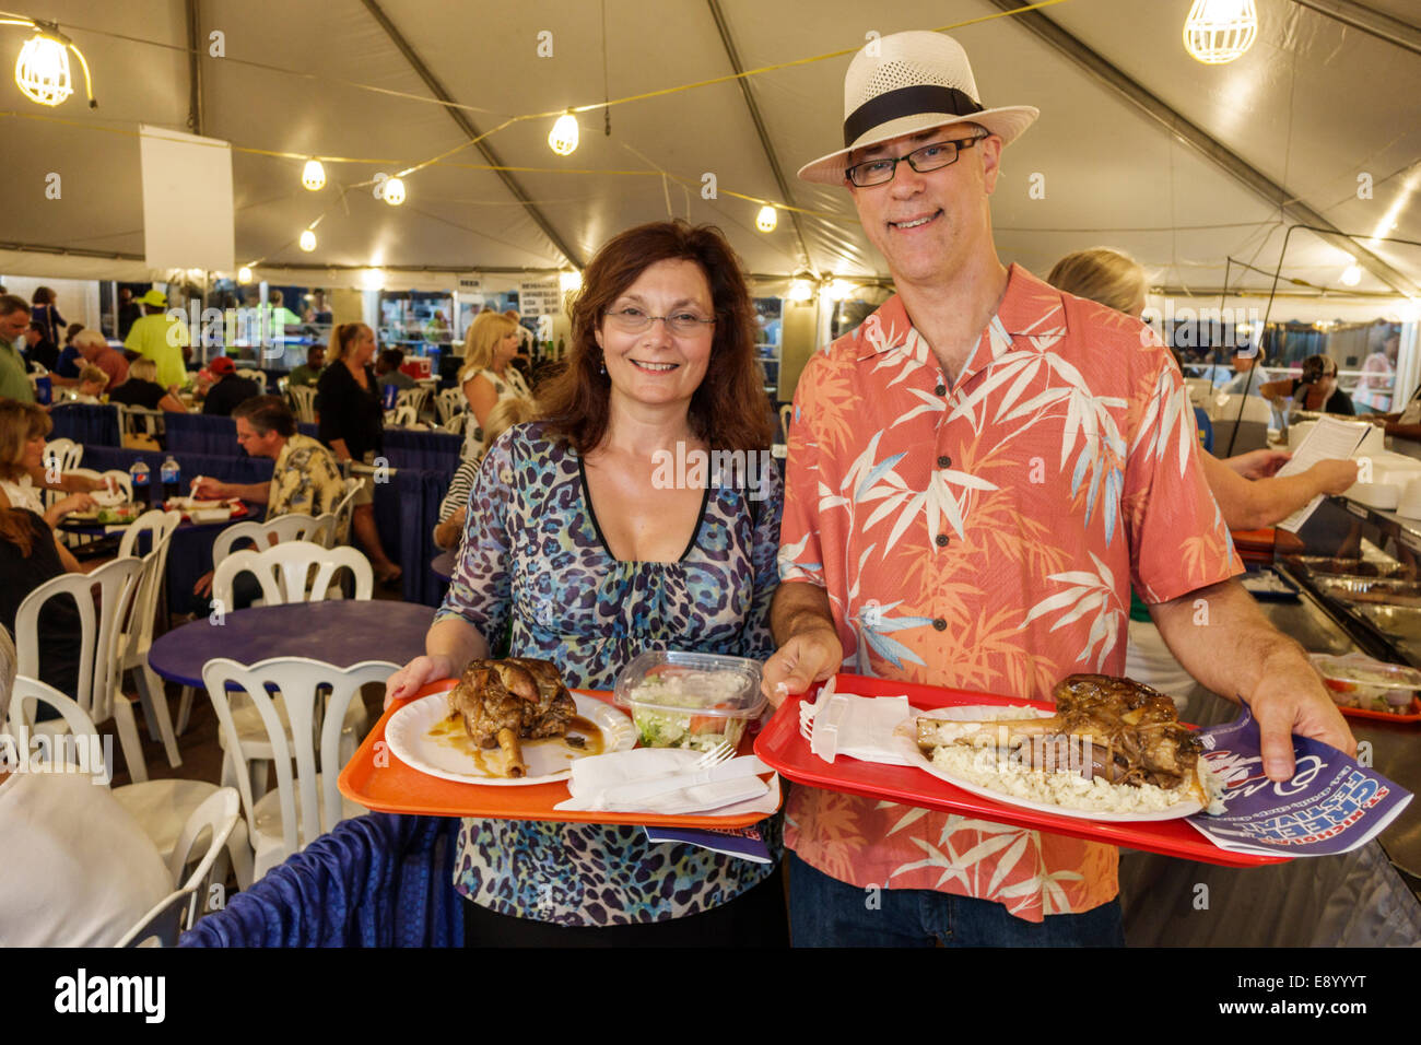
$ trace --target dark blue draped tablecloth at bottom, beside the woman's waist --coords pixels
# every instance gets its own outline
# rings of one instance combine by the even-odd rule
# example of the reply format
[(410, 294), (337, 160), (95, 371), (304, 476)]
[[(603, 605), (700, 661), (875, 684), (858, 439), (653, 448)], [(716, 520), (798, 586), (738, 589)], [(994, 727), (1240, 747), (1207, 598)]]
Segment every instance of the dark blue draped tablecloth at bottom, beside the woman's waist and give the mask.
[(459, 820), (342, 820), (183, 933), (179, 947), (460, 947)]

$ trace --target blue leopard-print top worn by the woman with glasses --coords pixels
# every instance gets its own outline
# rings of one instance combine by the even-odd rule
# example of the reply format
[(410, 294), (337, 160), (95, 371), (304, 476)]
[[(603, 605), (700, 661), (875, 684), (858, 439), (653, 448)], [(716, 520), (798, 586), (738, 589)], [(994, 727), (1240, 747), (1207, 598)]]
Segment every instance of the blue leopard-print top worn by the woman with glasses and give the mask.
[[(489, 451), (469, 496), (459, 564), (435, 620), (462, 617), (493, 648), (512, 620), (510, 655), (543, 657), (567, 685), (611, 690), (644, 650), (763, 660), (773, 651), (783, 481), (770, 466), (756, 506), (710, 486), (679, 562), (621, 562), (607, 550), (581, 461), (541, 424), (516, 425)], [(779, 819), (760, 825), (779, 857)], [(684, 845), (641, 827), (465, 820), (455, 889), (500, 914), (563, 926), (665, 921), (733, 900), (773, 864)]]

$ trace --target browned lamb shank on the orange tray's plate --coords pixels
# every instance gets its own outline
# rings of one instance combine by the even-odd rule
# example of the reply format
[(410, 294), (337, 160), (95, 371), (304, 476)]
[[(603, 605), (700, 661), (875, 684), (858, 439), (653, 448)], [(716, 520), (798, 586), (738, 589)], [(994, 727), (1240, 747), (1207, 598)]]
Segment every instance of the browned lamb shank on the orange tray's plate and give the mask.
[(502, 748), (507, 775), (523, 776), (520, 741), (564, 736), (577, 714), (557, 667), (546, 660), (475, 660), (449, 691), (449, 714), (463, 718), (480, 748)]

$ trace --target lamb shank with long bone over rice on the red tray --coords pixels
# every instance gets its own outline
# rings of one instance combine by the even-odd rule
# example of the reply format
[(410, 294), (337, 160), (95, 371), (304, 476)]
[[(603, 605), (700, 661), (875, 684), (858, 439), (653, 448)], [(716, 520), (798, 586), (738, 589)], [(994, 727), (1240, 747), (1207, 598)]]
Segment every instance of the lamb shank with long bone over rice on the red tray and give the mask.
[(1189, 782), (1198, 788), (1196, 765), (1204, 745), (1179, 725), (1174, 701), (1128, 678), (1070, 675), (1052, 692), (1056, 714), (1050, 718), (951, 722), (918, 719), (918, 745), (995, 745), (1013, 755), (1030, 754), (1033, 768), (1064, 769), (1060, 748), (1076, 745), (1070, 766), (1086, 778), (1110, 783), (1154, 783), (1174, 789)]

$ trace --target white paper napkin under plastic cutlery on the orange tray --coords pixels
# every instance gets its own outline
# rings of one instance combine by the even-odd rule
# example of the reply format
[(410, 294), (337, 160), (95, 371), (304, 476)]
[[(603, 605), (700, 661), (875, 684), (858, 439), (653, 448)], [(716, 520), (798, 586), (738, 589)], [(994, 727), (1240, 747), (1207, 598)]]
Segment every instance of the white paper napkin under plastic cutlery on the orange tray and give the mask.
[[(658, 815), (681, 815), (715, 810), (716, 816), (740, 816), (743, 813), (764, 813), (769, 816), (780, 808), (780, 778), (774, 773), (770, 783), (760, 795), (736, 802), (735, 805), (696, 803), (688, 800), (685, 792), (666, 791), (639, 799), (635, 805), (608, 805), (604, 795), (612, 788), (624, 783), (639, 783), (658, 776), (682, 773), (686, 782), (701, 772), (692, 766), (701, 759), (703, 752), (686, 748), (632, 748), (631, 751), (615, 751), (593, 758), (580, 758), (573, 762), (573, 775), (567, 782), (571, 798), (558, 802), (554, 809), (577, 810), (617, 810), (644, 812)], [(756, 779), (756, 778), (747, 778)], [(674, 781), (666, 781), (668, 789)], [(719, 786), (719, 785), (716, 785)]]

